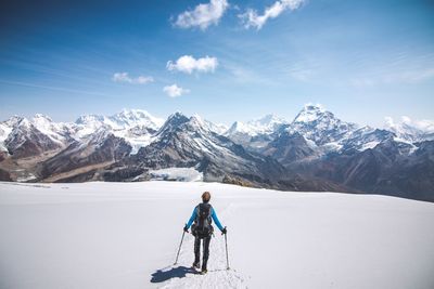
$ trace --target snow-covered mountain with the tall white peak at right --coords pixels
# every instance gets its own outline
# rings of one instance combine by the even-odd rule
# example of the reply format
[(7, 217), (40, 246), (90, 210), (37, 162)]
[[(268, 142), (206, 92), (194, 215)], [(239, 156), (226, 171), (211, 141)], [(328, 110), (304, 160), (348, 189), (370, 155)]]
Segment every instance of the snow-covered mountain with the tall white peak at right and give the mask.
[[(292, 122), (273, 116), (266, 116), (246, 124), (237, 121), (225, 135), (251, 150), (266, 152), (265, 154), (270, 154), (275, 149), (285, 150), (288, 144), (284, 143), (290, 135), (296, 139), (303, 137), (306, 143), (304, 148), (312, 150), (311, 154), (306, 155), (309, 159), (329, 153), (341, 154), (352, 149), (362, 152), (394, 137), (392, 131), (359, 127), (356, 123), (343, 121), (321, 105), (311, 104), (305, 105)], [(279, 141), (279, 139), (286, 141)], [(283, 147), (276, 147), (279, 144)]]

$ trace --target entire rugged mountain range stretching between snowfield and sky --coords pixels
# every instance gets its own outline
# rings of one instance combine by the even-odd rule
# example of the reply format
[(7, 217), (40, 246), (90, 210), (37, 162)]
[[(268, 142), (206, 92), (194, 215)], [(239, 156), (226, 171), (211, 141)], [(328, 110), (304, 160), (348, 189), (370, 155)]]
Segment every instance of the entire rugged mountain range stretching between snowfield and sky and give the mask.
[(165, 168), (193, 168), (209, 182), (434, 201), (434, 126), (376, 129), (310, 104), (292, 121), (268, 115), (229, 128), (139, 109), (75, 122), (40, 114), (0, 122), (2, 181), (133, 182)]

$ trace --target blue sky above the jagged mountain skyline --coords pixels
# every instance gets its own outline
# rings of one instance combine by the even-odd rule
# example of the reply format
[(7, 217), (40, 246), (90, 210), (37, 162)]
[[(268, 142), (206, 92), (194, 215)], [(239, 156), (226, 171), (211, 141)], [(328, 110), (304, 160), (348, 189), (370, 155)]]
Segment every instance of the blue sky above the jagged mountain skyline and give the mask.
[(305, 103), (361, 124), (434, 119), (432, 1), (36, 2), (1, 4), (0, 119), (140, 108), (228, 124)]

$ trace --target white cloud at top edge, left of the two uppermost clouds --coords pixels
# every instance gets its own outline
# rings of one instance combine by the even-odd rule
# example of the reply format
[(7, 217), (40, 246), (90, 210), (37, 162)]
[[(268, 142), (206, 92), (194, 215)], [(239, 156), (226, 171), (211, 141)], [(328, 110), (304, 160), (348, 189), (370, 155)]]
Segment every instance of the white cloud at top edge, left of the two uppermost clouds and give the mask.
[(217, 25), (229, 4), (227, 0), (210, 0), (207, 4), (199, 4), (194, 10), (178, 15), (175, 25), (181, 28), (200, 27), (205, 30), (209, 25)]

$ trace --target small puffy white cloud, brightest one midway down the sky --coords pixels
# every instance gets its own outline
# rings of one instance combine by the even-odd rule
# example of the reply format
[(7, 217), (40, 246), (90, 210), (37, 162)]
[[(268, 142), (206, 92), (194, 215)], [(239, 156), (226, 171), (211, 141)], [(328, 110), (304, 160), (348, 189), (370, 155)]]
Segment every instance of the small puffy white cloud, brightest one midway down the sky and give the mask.
[(218, 65), (218, 61), (216, 57), (205, 56), (203, 58), (195, 60), (191, 55), (183, 55), (179, 57), (175, 63), (169, 61), (167, 62), (167, 69), (178, 70), (186, 74), (191, 74), (194, 70), (199, 73), (214, 73)]

